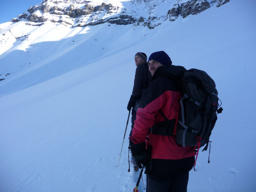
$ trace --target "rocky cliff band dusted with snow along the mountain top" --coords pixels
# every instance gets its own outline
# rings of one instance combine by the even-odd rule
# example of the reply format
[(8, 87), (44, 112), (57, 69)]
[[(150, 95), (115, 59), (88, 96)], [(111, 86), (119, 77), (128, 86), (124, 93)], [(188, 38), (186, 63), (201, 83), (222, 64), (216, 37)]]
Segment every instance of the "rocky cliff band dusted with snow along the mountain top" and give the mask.
[[(30, 7), (11, 22), (27, 21), (27, 25), (43, 25), (44, 22), (63, 23), (70, 27), (85, 27), (103, 23), (116, 25), (147, 26), (154, 29), (162, 22), (175, 21), (178, 17), (196, 15), (210, 8), (221, 6), (229, 0), (131, 0), (101, 4), (88, 0), (44, 0)], [(109, 1), (110, 2), (110, 1)], [(158, 8), (164, 11), (158, 12)], [(161, 9), (163, 10), (163, 9)]]

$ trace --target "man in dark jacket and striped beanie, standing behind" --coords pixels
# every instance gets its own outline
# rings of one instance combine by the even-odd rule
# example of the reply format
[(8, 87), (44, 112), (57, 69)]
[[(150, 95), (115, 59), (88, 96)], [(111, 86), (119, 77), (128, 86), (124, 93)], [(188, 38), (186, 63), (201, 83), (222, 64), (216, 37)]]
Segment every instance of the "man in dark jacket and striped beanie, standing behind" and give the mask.
[[(132, 134), (132, 128), (134, 126), (134, 121), (136, 119), (136, 111), (139, 107), (140, 98), (142, 96), (143, 91), (148, 87), (148, 83), (151, 78), (151, 74), (148, 69), (147, 64), (147, 55), (145, 53), (138, 52), (135, 54), (135, 78), (134, 78), (134, 85), (132, 89), (132, 94), (130, 96), (127, 109), (128, 111), (131, 110), (131, 130), (130, 136)], [(134, 164), (134, 170), (138, 171), (138, 166), (135, 163), (135, 160), (131, 156), (131, 161)]]

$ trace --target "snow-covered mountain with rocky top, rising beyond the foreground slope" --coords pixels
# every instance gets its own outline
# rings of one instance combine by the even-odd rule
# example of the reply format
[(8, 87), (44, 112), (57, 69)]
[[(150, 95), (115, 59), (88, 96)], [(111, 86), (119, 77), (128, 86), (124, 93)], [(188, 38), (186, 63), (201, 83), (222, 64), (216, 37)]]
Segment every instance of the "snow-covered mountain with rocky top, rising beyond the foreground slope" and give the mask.
[[(24, 76), (24, 73), (27, 76), (28, 71), (32, 70), (31, 73), (34, 73), (35, 68), (54, 66), (56, 60), (64, 60), (65, 66), (61, 66), (61, 68), (65, 67), (65, 71), (68, 71), (91, 62), (108, 51), (115, 51), (115, 48), (111, 48), (116, 47), (113, 46), (115, 43), (118, 44), (118, 47), (131, 45), (144, 38), (148, 29), (154, 29), (163, 23), (172, 25), (171, 21), (175, 21), (178, 17), (186, 18), (188, 15), (196, 15), (208, 9), (210, 5), (216, 8), (228, 1), (44, 0), (38, 5), (31, 6), (11, 22), (0, 24), (0, 80), (2, 81), (0, 81), (0, 86), (5, 84), (2, 85), (0, 95), (5, 92), (5, 89), (11, 91), (9, 81), (12, 78), (16, 78), (21, 83), (22, 81), (17, 77)], [(97, 30), (89, 32), (92, 26), (98, 26)], [(114, 33), (112, 32), (113, 28), (117, 30)], [(134, 30), (135, 34), (136, 31), (143, 32), (137, 33), (138, 35), (134, 35), (132, 40), (124, 41), (120, 45), (117, 39), (124, 38), (124, 29), (128, 29), (126, 31)], [(85, 36), (78, 35), (85, 33), (87, 33)], [(95, 35), (99, 35), (99, 39), (94, 37)], [(58, 43), (53, 45), (57, 41)], [(49, 44), (42, 46), (42, 42)], [(57, 53), (54, 46), (58, 46), (61, 51)], [(90, 53), (85, 53), (85, 60), (84, 55), (81, 56), (77, 53), (78, 47), (84, 49), (91, 47)], [(91, 54), (92, 52), (94, 54)], [(38, 55), (36, 59), (33, 57), (35, 53)], [(15, 62), (17, 58), (19, 58), (18, 62)], [(30, 68), (28, 69), (28, 67)], [(54, 77), (56, 73), (61, 74), (60, 71), (63, 71), (58, 67), (51, 68), (54, 70), (51, 77)], [(24, 70), (25, 72), (23, 72)], [(42, 74), (37, 75), (41, 76)], [(38, 79), (41, 82), (49, 77), (30, 79), (30, 86), (38, 83)], [(23, 85), (13, 89), (26, 88), (24, 83), (21, 84)]]

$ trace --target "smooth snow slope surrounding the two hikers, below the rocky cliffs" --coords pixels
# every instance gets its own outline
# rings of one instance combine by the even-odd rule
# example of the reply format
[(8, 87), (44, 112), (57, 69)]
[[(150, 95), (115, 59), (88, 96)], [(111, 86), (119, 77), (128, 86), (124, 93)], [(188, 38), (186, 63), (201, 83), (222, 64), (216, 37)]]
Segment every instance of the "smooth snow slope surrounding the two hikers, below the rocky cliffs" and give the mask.
[(0, 192), (131, 192), (139, 173), (127, 171), (128, 134), (116, 165), (133, 58), (160, 50), (173, 64), (210, 74), (224, 108), (211, 162), (208, 152), (199, 153), (188, 191), (254, 192), (254, 7), (254, 0), (231, 0), (154, 30), (100, 25), (62, 37), (40, 31), (37, 42), (2, 54), (0, 71), (13, 73), (0, 82)]

